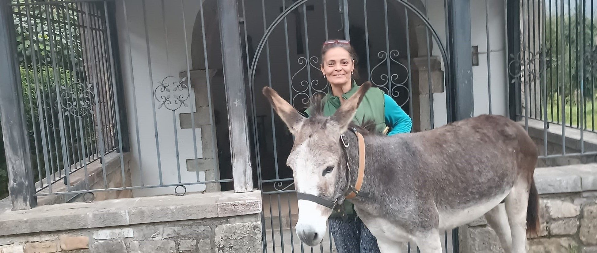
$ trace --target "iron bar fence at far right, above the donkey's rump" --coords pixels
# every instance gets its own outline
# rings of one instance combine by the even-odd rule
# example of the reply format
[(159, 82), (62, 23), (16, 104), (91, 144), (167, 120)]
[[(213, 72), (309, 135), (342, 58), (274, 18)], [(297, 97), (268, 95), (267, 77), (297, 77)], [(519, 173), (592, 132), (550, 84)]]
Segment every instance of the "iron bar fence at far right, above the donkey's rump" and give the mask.
[(509, 2), (510, 116), (524, 121), (541, 158), (597, 154), (596, 7), (586, 0)]

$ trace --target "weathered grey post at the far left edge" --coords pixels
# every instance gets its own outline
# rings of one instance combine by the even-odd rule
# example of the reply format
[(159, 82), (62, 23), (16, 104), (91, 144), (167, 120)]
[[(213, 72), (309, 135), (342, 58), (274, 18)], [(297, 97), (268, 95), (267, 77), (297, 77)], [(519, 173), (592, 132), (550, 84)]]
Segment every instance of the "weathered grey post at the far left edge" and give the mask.
[(0, 2), (0, 121), (13, 210), (37, 205), (10, 1)]

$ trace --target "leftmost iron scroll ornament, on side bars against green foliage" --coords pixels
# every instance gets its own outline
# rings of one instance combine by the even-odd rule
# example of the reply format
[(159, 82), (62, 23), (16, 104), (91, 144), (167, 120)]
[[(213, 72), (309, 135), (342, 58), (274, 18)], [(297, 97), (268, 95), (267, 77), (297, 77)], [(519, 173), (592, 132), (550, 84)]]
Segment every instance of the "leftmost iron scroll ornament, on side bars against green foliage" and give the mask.
[(83, 117), (88, 113), (93, 114), (95, 97), (92, 83), (85, 86), (82, 83), (75, 82), (70, 83), (68, 86), (60, 86), (60, 88), (64, 90), (60, 94), (60, 101), (65, 116), (70, 114), (75, 117)]

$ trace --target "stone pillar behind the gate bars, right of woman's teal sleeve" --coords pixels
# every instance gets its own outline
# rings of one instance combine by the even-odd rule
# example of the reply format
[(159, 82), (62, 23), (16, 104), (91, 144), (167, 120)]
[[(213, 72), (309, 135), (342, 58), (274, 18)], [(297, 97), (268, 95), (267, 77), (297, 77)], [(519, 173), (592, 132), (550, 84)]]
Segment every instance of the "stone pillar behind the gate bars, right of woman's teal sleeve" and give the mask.
[[(429, 72), (431, 73), (432, 93), (444, 92), (444, 71), (439, 57), (417, 57), (411, 60), (413, 79), (413, 132), (431, 129), (429, 108)], [(429, 71), (429, 66), (431, 71)]]

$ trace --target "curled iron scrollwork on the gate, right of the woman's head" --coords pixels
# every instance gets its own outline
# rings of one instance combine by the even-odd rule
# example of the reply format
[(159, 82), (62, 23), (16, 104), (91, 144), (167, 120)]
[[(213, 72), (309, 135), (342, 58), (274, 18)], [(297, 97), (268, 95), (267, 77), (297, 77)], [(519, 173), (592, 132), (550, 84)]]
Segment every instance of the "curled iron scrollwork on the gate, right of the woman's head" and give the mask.
[[(408, 100), (410, 99), (410, 90), (408, 90), (408, 87), (406, 85), (404, 85), (405, 83), (408, 82), (408, 79), (410, 78), (410, 71), (404, 64), (400, 63), (397, 60), (399, 55), (400, 55), (400, 52), (396, 49), (391, 50), (389, 53), (386, 51), (378, 52), (377, 57), (380, 58), (381, 61), (377, 65), (375, 65), (375, 67), (373, 67), (373, 69), (371, 69), (371, 73), (369, 74), (369, 76), (371, 79), (371, 83), (373, 83), (373, 85), (376, 86), (377, 88), (386, 92), (387, 95), (398, 98), (401, 95), (401, 89), (403, 91), (405, 91), (407, 93), (407, 99), (405, 99), (404, 102), (399, 103), (399, 105), (402, 106), (402, 105), (407, 104)], [(379, 75), (379, 79), (381, 79), (381, 82), (383, 82), (383, 83), (376, 82), (376, 79), (373, 78), (375, 76), (374, 72), (376, 70), (380, 69), (380, 68), (378, 68), (380, 65), (382, 65), (382, 64), (387, 65), (387, 61), (393, 61), (394, 63), (398, 64), (399, 67), (404, 68), (405, 73), (406, 73), (404, 80), (399, 80), (400, 79), (399, 74), (391, 74), (392, 73), (392, 70), (391, 70), (392, 64), (390, 63), (390, 70), (386, 71), (384, 74)], [(389, 77), (388, 77), (388, 73), (390, 73)], [(391, 85), (390, 85), (390, 82), (391, 82)]]

